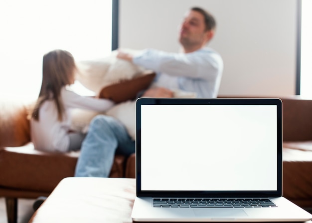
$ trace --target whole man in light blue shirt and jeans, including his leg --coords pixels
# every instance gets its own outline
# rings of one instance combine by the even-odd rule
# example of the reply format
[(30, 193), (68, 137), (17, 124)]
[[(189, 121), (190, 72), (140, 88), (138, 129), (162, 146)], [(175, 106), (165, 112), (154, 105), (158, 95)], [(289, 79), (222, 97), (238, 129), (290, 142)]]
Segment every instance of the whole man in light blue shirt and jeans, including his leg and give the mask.
[[(216, 97), (223, 61), (217, 52), (205, 47), (214, 33), (214, 18), (193, 7), (181, 24), (181, 53), (148, 49), (136, 56), (120, 51), (118, 57), (157, 73), (155, 87), (145, 91), (144, 97), (172, 97), (176, 90), (195, 92), (197, 97)], [(115, 153), (129, 156), (134, 152), (135, 141), (121, 122), (109, 116), (96, 116), (82, 144), (75, 176), (108, 177)]]

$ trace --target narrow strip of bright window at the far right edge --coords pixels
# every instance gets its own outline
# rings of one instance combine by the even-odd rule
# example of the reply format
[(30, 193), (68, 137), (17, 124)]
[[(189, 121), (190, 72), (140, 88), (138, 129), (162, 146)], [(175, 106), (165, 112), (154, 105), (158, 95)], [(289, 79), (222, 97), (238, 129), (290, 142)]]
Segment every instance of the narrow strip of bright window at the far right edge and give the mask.
[(301, 66), (299, 94), (305, 97), (312, 97), (312, 1), (302, 0), (301, 3)]

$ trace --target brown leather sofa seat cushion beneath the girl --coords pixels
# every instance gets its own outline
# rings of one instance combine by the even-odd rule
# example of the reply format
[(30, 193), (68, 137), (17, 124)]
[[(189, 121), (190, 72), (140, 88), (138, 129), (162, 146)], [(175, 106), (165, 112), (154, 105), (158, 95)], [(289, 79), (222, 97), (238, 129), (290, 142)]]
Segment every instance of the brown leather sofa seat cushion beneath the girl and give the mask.
[[(0, 187), (50, 193), (65, 177), (74, 176), (78, 152), (47, 153), (22, 147), (0, 149)], [(125, 157), (116, 155), (110, 177), (124, 176)]]

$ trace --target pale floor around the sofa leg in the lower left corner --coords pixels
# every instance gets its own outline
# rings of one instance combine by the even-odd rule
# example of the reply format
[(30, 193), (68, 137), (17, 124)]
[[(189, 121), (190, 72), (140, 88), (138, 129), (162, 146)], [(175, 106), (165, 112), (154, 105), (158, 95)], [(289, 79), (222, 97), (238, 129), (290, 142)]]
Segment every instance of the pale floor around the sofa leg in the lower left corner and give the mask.
[[(28, 223), (34, 213), (32, 209), (34, 201), (33, 199), (18, 199), (17, 223)], [(0, 198), (0, 223), (7, 223), (4, 198)]]

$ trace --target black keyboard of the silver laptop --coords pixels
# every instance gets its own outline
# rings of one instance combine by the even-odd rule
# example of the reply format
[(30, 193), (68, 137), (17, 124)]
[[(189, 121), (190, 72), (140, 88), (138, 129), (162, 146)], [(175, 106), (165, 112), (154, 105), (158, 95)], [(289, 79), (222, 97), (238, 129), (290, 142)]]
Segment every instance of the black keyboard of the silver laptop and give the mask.
[(153, 199), (155, 208), (270, 208), (269, 199)]

